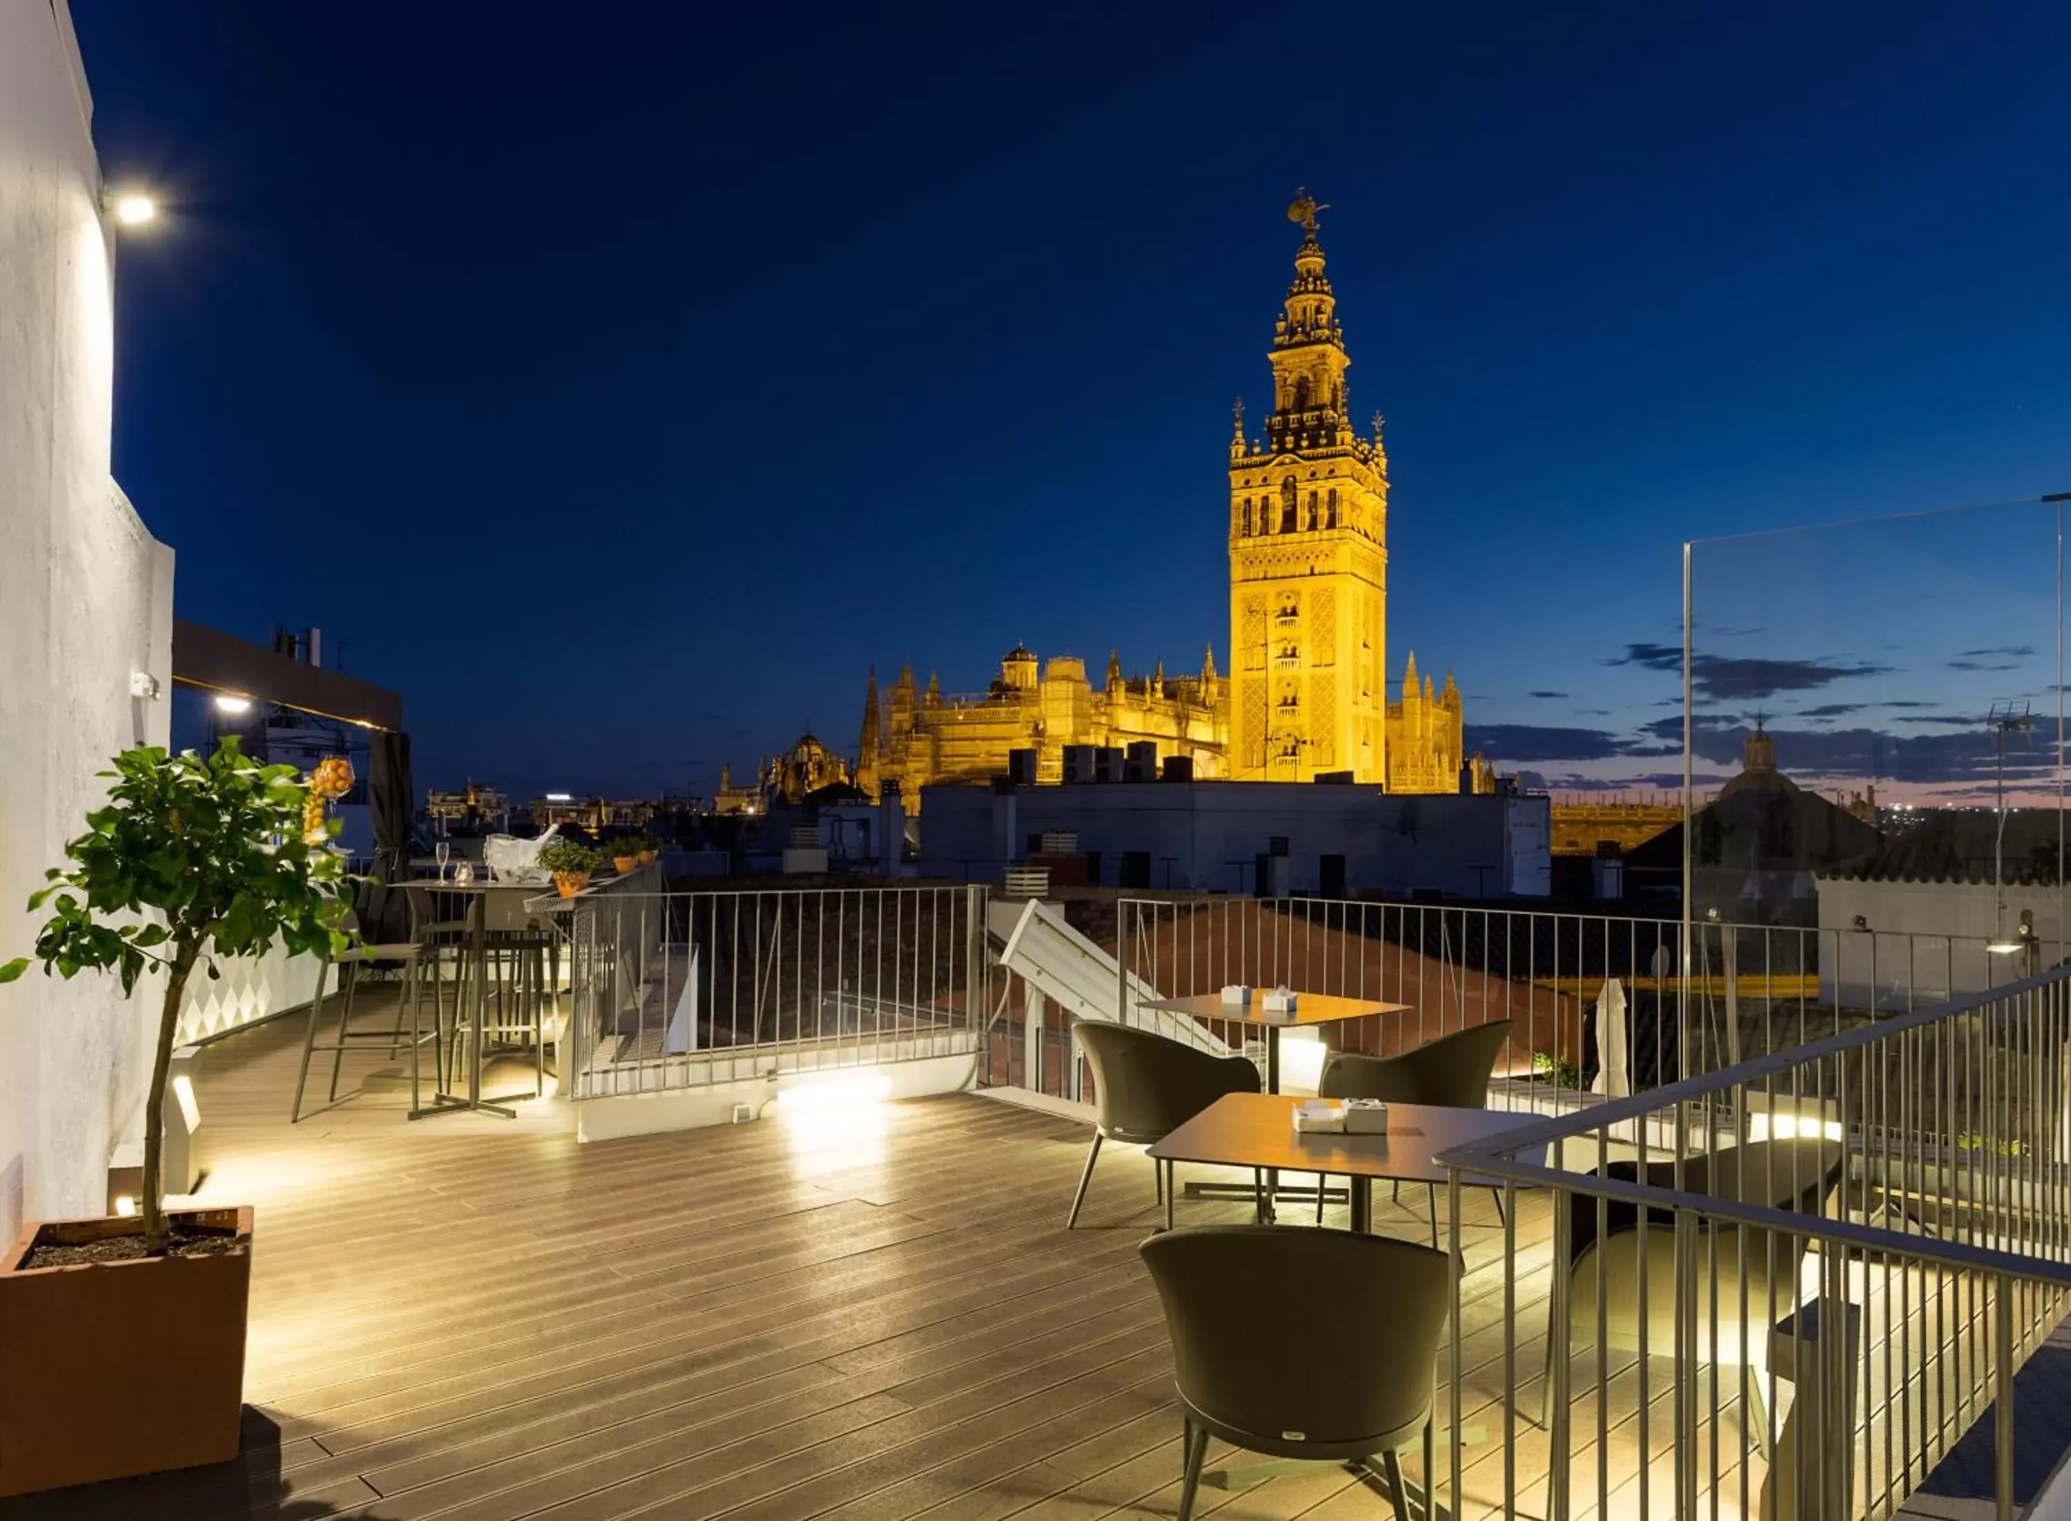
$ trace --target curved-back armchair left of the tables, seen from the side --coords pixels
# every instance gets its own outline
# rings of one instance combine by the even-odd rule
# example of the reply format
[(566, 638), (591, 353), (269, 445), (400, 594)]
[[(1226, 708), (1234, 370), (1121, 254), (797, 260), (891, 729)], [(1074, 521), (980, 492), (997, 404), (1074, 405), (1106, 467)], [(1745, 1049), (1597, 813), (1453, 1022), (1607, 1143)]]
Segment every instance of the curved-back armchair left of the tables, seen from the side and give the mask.
[[(1151, 1144), (1164, 1140), (1226, 1093), (1257, 1093), (1259, 1070), (1243, 1055), (1214, 1055), (1154, 1031), (1108, 1020), (1073, 1020), (1073, 1035), (1093, 1070), (1093, 1146), (1085, 1153), (1079, 1192), (1071, 1198), (1069, 1231), (1093, 1182), (1102, 1140)], [(1172, 1217), (1170, 1163), (1156, 1167), (1158, 1198)]]

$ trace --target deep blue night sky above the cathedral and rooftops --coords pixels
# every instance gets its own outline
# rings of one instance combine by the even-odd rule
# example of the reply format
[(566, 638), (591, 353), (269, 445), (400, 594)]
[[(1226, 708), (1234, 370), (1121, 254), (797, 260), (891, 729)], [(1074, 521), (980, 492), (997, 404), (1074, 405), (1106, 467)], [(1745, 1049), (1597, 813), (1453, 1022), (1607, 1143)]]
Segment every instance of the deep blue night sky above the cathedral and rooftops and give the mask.
[[(118, 474), (184, 617), (402, 689), (420, 784), (710, 788), (1015, 639), (1228, 668), (1307, 184), (1390, 662), (1553, 782), (1675, 770), (1607, 662), (1684, 538), (2071, 488), (2071, 10), (1466, 14), (75, 0), (170, 203)], [(1769, 654), (1841, 673), (1785, 710), (1897, 679)]]

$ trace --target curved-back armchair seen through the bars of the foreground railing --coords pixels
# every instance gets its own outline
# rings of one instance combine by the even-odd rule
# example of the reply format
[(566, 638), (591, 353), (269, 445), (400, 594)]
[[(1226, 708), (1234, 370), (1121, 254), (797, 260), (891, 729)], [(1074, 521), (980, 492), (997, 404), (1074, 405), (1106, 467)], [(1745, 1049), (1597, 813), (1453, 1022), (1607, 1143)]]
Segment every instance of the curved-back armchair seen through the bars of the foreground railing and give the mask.
[[(1700, 1157), (1686, 1157), (1682, 1192), (1767, 1204), (1798, 1215), (1820, 1215), (1827, 1194), (1841, 1182), (1843, 1149), (1837, 1140), (1796, 1136), (1750, 1140)], [(1640, 1182), (1638, 1163), (1613, 1161), (1605, 1177)], [(1675, 1163), (1646, 1163), (1649, 1188), (1675, 1188)], [(1603, 1345), (1609, 1351), (1669, 1355), (1675, 1345), (1675, 1225), (1667, 1211), (1640, 1211), (1624, 1200), (1605, 1200), (1599, 1235), (1599, 1200), (1588, 1194), (1568, 1198), (1568, 1326), (1547, 1326), (1547, 1362), (1541, 1386), (1541, 1418), (1553, 1415), (1553, 1358), (1574, 1339), (1597, 1339), (1597, 1279), (1603, 1277)], [(1698, 1219), (1698, 1260), (1704, 1291), (1696, 1304), (1698, 1351), (1721, 1366), (1746, 1366), (1750, 1389), (1762, 1403), (1769, 1355), (1769, 1326), (1789, 1316), (1802, 1298), (1800, 1262), (1804, 1237), (1738, 1221)], [(1555, 1262), (1555, 1273), (1562, 1264)], [(1644, 1293), (1642, 1293), (1644, 1279)], [(1715, 1289), (1713, 1289), (1715, 1285)], [(1644, 1324), (1640, 1306), (1646, 1306)], [(1742, 1318), (1746, 1304), (1746, 1318)], [(1771, 1314), (1771, 1308), (1775, 1314)], [(1769, 1444), (1769, 1422), (1748, 1413), (1758, 1447)]]

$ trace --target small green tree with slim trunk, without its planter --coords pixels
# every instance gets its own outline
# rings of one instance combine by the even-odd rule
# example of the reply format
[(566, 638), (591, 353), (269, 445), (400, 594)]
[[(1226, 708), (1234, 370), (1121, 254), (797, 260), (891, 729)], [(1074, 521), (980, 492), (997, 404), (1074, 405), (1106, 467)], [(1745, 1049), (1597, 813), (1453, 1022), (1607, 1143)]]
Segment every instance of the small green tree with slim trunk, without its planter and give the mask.
[[(139, 745), (114, 766), (101, 772), (112, 778), (108, 805), (87, 813), (87, 832), (64, 846), (68, 865), (46, 871), (48, 886), (29, 898), (31, 913), (50, 906), (33, 960), (58, 977), (114, 971), (124, 993), (147, 968), (166, 971), (143, 1120), (145, 1248), (164, 1252), (172, 1240), (159, 1200), (166, 1070), (195, 966), (222, 977), (217, 956), (259, 956), (275, 940), (336, 956), (352, 942), (346, 908), (358, 877), (331, 844), (336, 822), (304, 832), (311, 782), (294, 766), (261, 766), (234, 737), (207, 759)], [(327, 780), (319, 778), (319, 797)], [(29, 960), (0, 964), (0, 983)]]

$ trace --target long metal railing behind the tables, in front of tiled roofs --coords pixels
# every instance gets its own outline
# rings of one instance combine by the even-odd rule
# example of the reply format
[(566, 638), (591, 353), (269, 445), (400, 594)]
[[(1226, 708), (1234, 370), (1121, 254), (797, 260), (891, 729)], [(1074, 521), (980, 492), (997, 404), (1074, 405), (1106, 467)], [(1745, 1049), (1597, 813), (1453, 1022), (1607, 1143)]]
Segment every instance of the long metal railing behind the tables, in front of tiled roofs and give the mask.
[[(1336, 898), (1073, 898), (1060, 913), (1120, 956), (1114, 1012), (1226, 983), (1400, 1004), (1332, 1026), (1332, 1047), (1396, 1051), (1464, 1024), (1512, 1020), (1499, 1107), (1566, 1109), (1729, 1068), (2007, 985), (2063, 948), (1994, 954), (1982, 937)], [(994, 935), (998, 950), (1000, 935)], [(1079, 1095), (1069, 1018), (1002, 975), (984, 1080)], [(1230, 1049), (1257, 1028), (1201, 1020)], [(1615, 1024), (1615, 1031), (1613, 1031)]]

